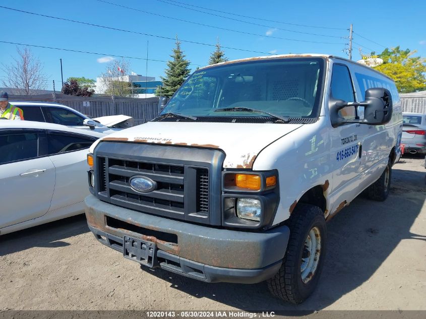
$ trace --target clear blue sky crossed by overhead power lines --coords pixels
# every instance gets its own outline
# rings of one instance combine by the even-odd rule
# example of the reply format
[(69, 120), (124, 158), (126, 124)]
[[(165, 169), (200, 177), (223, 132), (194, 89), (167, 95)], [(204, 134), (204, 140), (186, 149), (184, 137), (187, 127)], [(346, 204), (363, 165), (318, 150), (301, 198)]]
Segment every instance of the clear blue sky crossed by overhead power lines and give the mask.
[[(361, 48), (364, 53), (369, 53), (371, 50), (381, 52), (384, 47), (396, 45), (400, 45), (404, 49), (417, 50), (416, 55), (426, 56), (426, 28), (424, 24), (426, 2), (424, 1), (370, 1), (355, 6), (353, 2), (347, 1), (318, 0), (296, 2), (282, 0), (264, 2), (254, 0), (216, 0), (214, 2), (175, 0), (189, 5), (277, 22), (237, 17), (189, 7), (232, 18), (225, 19), (166, 4), (165, 2), (168, 0), (164, 0), (164, 2), (162, 2), (163, 0), (105, 1), (154, 14), (255, 35), (176, 21), (112, 6), (97, 0), (1, 0), (0, 6), (163, 37), (174, 38), (177, 34), (178, 38), (182, 40), (208, 44), (215, 44), (217, 37), (219, 37), (223, 46), (276, 54), (328, 53), (347, 57), (342, 50), (345, 47), (344, 43), (347, 43), (348, 40), (340, 37), (348, 36), (349, 32), (346, 29), (349, 28), (350, 23), (353, 23), (355, 42), (353, 44), (355, 47), (353, 59), (359, 59), (358, 48)], [(180, 6), (178, 3), (174, 4)], [(49, 79), (49, 89), (52, 88), (51, 80), (55, 80), (56, 89), (60, 89), (59, 58), (63, 59), (64, 81), (70, 76), (84, 76), (95, 79), (106, 67), (105, 63), (100, 63), (97, 60), (98, 58), (107, 57), (110, 54), (146, 58), (147, 41), (149, 41), (148, 58), (168, 60), (171, 49), (174, 47), (174, 41), (168, 39), (59, 21), (3, 8), (0, 8), (0, 14), (2, 17), (0, 41), (105, 53), (104, 55), (93, 55), (33, 47), (34, 55), (38, 56), (43, 62), (44, 72)], [(263, 26), (238, 22), (234, 19)], [(290, 24), (339, 28), (339, 30)], [(299, 32), (327, 36), (308, 35)], [(284, 38), (339, 44), (300, 42)], [(181, 47), (187, 58), (193, 63), (191, 66), (193, 70), (197, 65), (206, 65), (213, 50), (211, 46), (186, 42), (182, 42)], [(265, 55), (234, 49), (224, 50), (229, 59)], [(12, 56), (16, 56), (16, 45), (0, 43), (0, 62), (11, 63)], [(103, 60), (108, 60), (108, 58)], [(145, 60), (128, 60), (134, 72), (146, 74)], [(148, 76), (154, 76), (159, 80), (159, 76), (164, 74), (164, 68), (165, 62), (148, 61)], [(4, 77), (4, 75), (4, 72), (0, 70), (0, 77)]]

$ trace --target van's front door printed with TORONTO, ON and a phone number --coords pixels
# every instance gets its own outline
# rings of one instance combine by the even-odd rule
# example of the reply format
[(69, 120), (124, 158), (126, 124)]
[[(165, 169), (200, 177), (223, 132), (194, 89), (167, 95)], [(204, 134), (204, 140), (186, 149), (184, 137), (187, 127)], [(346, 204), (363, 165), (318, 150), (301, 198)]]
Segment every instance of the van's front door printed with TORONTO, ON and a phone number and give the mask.
[[(330, 97), (346, 102), (354, 102), (355, 94), (349, 69), (339, 63), (333, 63), (331, 75)], [(357, 117), (357, 109), (348, 106), (339, 111), (339, 116), (345, 119)], [(355, 198), (359, 190), (359, 149), (362, 146), (362, 131), (360, 124), (344, 124), (334, 127), (330, 132), (331, 161), (334, 163), (332, 197), (334, 206), (331, 214), (337, 208)]]

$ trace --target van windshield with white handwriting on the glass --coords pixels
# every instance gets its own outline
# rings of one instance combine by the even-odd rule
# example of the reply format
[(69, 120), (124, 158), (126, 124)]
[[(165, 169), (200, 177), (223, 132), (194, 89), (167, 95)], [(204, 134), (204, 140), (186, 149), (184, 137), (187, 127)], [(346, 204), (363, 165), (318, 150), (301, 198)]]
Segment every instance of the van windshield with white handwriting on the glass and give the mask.
[(316, 118), (324, 63), (322, 58), (266, 59), (196, 71), (156, 120), (282, 123), (279, 118)]

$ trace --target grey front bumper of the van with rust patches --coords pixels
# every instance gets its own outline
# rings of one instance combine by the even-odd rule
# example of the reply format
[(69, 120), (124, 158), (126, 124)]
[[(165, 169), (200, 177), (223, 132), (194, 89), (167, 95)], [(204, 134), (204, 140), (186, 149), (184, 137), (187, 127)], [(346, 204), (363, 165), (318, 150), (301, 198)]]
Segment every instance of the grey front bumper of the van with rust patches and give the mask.
[(158, 267), (206, 282), (257, 283), (281, 267), (289, 229), (264, 232), (218, 229), (153, 216), (85, 199), (86, 217), (95, 238), (123, 253), (129, 236), (156, 244)]

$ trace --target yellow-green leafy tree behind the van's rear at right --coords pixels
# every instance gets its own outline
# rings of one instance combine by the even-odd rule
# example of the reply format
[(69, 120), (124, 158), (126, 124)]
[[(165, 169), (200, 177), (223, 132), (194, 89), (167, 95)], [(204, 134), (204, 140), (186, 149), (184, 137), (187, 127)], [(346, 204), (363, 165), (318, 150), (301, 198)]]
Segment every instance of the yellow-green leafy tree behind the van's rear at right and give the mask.
[(362, 58), (379, 57), (383, 59), (383, 64), (373, 69), (392, 78), (399, 92), (408, 93), (426, 90), (426, 59), (413, 56), (414, 53), (416, 53), (415, 50), (401, 50), (397, 46), (391, 49), (386, 48), (380, 54), (371, 52), (370, 56), (362, 56)]

